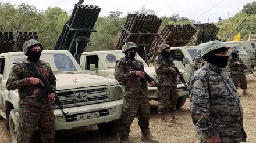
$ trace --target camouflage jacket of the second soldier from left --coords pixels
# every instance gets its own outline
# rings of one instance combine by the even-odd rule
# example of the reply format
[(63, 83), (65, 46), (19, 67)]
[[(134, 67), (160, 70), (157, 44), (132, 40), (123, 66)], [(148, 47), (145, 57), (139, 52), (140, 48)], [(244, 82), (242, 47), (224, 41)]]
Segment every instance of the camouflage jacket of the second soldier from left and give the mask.
[[(143, 79), (139, 76), (136, 76), (135, 69), (131, 67), (129, 64), (126, 64), (129, 58), (121, 58), (120, 60), (116, 61), (115, 65), (115, 79), (118, 82), (122, 82), (125, 91), (129, 90), (130, 94), (137, 93), (138, 91), (143, 93), (143, 96), (148, 95), (148, 88), (142, 87)], [(144, 69), (143, 62), (135, 58), (132, 60), (137, 67)]]

